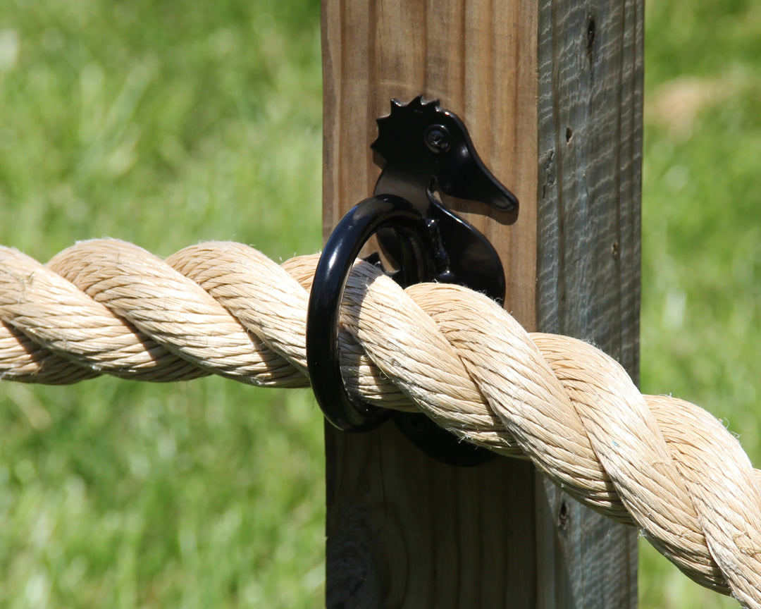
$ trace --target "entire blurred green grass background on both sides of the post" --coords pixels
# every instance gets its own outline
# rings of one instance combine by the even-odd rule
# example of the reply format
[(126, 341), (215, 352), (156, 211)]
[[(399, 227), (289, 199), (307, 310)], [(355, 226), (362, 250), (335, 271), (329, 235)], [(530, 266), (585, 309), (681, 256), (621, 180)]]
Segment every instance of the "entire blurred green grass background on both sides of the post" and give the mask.
[[(320, 247), (318, 0), (0, 3), (0, 243)], [(761, 4), (648, 0), (642, 389), (761, 464)], [(0, 385), (0, 607), (317, 607), (307, 391)], [(641, 546), (640, 606), (736, 607)]]

